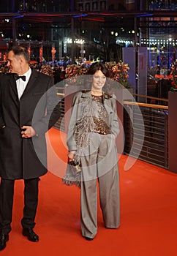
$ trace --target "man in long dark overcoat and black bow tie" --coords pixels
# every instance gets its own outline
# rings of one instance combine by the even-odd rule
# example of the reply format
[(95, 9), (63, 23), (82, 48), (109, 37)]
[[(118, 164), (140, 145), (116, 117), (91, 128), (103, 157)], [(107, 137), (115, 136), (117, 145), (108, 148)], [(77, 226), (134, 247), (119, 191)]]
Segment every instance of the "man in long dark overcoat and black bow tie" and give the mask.
[(53, 78), (29, 67), (29, 53), (15, 46), (10, 73), (0, 77), (0, 250), (9, 240), (16, 179), (24, 180), (23, 236), (34, 233), (39, 176), (47, 173), (45, 132), (60, 116)]

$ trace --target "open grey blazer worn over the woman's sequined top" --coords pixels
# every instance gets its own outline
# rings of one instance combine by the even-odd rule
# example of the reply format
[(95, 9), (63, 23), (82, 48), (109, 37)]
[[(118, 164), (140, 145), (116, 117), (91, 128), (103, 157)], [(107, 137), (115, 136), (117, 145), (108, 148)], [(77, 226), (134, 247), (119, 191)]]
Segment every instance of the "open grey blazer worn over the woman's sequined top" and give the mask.
[[(83, 102), (86, 102), (88, 97), (91, 99), (91, 91), (78, 91), (72, 101), (72, 114), (69, 121), (69, 127), (67, 130), (67, 146), (69, 151), (77, 150), (77, 143), (75, 141), (75, 125), (77, 121), (83, 116)], [(110, 130), (115, 137), (119, 133), (117, 108), (116, 108), (116, 96), (103, 95), (103, 103), (105, 109), (108, 111)]]

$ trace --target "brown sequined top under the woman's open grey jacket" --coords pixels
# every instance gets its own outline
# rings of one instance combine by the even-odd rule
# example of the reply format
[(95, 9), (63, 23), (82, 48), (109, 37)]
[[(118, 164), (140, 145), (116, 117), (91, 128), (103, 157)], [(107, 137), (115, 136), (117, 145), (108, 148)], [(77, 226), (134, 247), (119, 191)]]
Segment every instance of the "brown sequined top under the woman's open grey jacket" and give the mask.
[(92, 99), (97, 102), (98, 105), (98, 118), (94, 117), (94, 124), (95, 129), (94, 132), (97, 132), (101, 135), (108, 135), (110, 134), (110, 127), (108, 122), (108, 112), (105, 109), (105, 106), (103, 105), (103, 97), (101, 96), (95, 96), (91, 95)]

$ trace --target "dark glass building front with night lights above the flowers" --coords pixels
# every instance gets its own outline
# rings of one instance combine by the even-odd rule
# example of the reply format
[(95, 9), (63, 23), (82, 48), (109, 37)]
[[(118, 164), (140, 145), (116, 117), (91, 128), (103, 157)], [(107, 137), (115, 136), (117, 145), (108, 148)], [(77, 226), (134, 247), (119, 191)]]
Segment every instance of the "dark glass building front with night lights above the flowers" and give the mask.
[[(177, 59), (176, 0), (0, 0), (0, 40), (41, 45), (50, 60), (63, 56), (118, 61), (122, 48), (148, 48), (149, 65), (170, 67)], [(5, 49), (4, 46), (1, 48)]]

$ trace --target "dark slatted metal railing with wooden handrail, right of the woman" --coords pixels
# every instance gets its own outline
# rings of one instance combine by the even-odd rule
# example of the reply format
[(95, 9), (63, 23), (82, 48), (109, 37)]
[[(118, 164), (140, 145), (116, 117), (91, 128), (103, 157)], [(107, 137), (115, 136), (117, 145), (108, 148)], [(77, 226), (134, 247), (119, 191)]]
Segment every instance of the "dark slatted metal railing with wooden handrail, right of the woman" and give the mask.
[(124, 101), (124, 154), (167, 168), (167, 122), (167, 106)]

